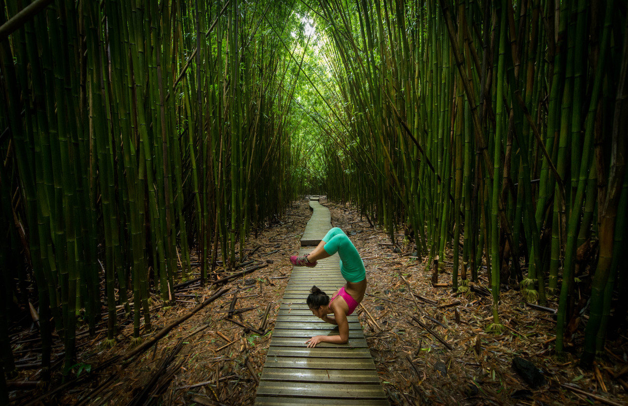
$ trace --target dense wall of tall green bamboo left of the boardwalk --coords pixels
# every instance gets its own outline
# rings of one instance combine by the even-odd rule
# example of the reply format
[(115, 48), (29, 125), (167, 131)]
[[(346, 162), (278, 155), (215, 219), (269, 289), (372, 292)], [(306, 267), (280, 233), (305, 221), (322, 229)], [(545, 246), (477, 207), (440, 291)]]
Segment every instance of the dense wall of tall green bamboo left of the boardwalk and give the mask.
[[(26, 3), (0, 0), (0, 25)], [(106, 320), (113, 345), (133, 310), (138, 342), (151, 296), (232, 268), (303, 192), (290, 134), (306, 40), (290, 4), (238, 0), (60, 0), (0, 39), (3, 367), (22, 306), (44, 374), (54, 333), (67, 376), (77, 320)]]

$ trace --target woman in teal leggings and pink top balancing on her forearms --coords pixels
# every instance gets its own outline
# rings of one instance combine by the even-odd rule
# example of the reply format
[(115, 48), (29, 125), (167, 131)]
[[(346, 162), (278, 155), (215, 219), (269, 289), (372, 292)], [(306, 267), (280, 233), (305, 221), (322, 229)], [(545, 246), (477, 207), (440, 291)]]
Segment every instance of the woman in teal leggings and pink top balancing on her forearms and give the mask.
[[(347, 234), (338, 227), (333, 227), (323, 237), (314, 251), (305, 256), (291, 256), (290, 262), (296, 266), (316, 266), (318, 259), (327, 258), (338, 252), (340, 256), (340, 273), (347, 283), (338, 289), (330, 299), (325, 292), (316, 286), (311, 288), (307, 303), (313, 315), (333, 325), (338, 325), (337, 336), (314, 336), (305, 341), (308, 347), (318, 343), (344, 344), (349, 341), (349, 322), (357, 305), (364, 299), (366, 291), (366, 271), (359, 252), (355, 249)], [(328, 316), (333, 313), (333, 316)]]

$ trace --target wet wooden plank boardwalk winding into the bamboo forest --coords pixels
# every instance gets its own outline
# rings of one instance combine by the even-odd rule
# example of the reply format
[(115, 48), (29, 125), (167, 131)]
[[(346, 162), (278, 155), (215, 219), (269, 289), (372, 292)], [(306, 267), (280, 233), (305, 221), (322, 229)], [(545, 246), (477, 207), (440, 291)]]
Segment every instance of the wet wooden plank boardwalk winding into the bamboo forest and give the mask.
[[(301, 238), (299, 255), (308, 254), (332, 228), (330, 213), (310, 200), (312, 217)], [(388, 405), (355, 313), (349, 319), (349, 343), (320, 343), (307, 348), (315, 335), (337, 335), (336, 326), (312, 315), (305, 299), (315, 284), (331, 296), (345, 284), (338, 255), (318, 261), (316, 268), (296, 266), (281, 300), (256, 405)]]

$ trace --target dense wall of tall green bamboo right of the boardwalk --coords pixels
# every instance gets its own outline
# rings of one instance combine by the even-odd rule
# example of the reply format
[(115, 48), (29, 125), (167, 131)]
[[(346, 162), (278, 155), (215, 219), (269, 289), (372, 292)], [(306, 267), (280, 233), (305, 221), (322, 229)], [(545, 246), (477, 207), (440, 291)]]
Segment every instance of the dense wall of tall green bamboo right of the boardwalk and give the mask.
[[(333, 0), (312, 4), (335, 82), (318, 124), (330, 199), (406, 224), (467, 293), (558, 303), (556, 351), (582, 362), (628, 302), (628, 95), (622, 1)], [(448, 251), (450, 250), (450, 251)], [(462, 257), (462, 258), (461, 258)], [(484, 271), (485, 269), (485, 271)], [(612, 313), (612, 317), (611, 317)], [(583, 315), (588, 315), (583, 316)], [(578, 341), (576, 343), (576, 341)]]

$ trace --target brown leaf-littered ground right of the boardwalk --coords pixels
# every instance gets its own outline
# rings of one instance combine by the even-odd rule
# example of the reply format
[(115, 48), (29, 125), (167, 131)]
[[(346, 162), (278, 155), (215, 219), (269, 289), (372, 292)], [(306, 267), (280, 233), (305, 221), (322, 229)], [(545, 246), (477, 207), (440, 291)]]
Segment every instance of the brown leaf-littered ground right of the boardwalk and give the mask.
[[(324, 199), (322, 204), (331, 211), (332, 226), (349, 235), (364, 259), (369, 284), (358, 315), (391, 404), (628, 404), (625, 333), (607, 342), (607, 351), (593, 370), (582, 369), (576, 352), (584, 323), (564, 359), (559, 359), (553, 348), (557, 299), (538, 306), (512, 290), (501, 293), (499, 306), (506, 330), (487, 333), (492, 301), (486, 296), (490, 295), (486, 269), (480, 269), (480, 283), (467, 294), (452, 292), (448, 250), (444, 270), (438, 274), (441, 283), (434, 285), (432, 267), (426, 258), (413, 258), (414, 247), (404, 245), (403, 234), (395, 241), (401, 252), (394, 252), (387, 232), (360, 221), (354, 207)], [(441, 286), (445, 283), (449, 287)], [(546, 382), (530, 387), (512, 367), (517, 357), (534, 364)]]

